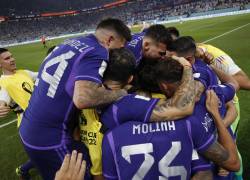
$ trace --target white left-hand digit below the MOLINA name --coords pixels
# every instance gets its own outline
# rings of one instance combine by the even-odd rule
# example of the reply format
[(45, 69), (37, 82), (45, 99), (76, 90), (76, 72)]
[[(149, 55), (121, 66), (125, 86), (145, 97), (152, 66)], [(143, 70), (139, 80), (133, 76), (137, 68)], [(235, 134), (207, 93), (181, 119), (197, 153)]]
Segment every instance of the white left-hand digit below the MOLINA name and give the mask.
[(154, 164), (154, 157), (149, 153), (153, 152), (153, 145), (152, 143), (147, 144), (137, 144), (131, 146), (123, 146), (122, 147), (122, 157), (126, 159), (129, 163), (131, 163), (130, 156), (136, 154), (144, 154), (144, 161), (141, 164), (140, 168), (132, 178), (132, 180), (140, 180), (145, 177), (147, 172)]

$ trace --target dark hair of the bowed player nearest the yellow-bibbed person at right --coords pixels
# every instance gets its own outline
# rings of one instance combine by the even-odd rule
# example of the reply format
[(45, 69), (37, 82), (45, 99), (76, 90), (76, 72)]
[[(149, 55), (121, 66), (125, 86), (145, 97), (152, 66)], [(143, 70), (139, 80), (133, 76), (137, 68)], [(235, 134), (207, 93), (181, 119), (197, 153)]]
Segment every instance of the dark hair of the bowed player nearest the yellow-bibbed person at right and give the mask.
[(183, 55), (190, 51), (195, 53), (196, 44), (191, 36), (182, 36), (173, 41), (168, 50), (175, 51), (178, 55)]

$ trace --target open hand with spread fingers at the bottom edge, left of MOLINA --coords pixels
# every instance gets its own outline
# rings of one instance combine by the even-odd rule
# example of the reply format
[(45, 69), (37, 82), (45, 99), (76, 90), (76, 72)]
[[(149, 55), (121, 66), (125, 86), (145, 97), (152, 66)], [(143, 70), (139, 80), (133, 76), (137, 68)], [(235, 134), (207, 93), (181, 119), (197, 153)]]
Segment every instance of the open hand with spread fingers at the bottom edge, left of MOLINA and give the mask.
[(55, 180), (83, 180), (86, 170), (86, 161), (82, 160), (82, 153), (74, 150), (71, 154), (66, 154)]

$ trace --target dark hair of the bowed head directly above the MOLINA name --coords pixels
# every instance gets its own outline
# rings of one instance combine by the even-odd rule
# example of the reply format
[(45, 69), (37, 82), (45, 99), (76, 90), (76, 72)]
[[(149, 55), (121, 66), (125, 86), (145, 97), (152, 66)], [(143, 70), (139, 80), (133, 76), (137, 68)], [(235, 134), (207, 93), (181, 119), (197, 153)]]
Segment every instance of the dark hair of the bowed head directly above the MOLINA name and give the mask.
[(155, 77), (157, 82), (179, 82), (182, 79), (182, 74), (183, 66), (172, 58), (159, 61), (159, 63), (155, 66)]

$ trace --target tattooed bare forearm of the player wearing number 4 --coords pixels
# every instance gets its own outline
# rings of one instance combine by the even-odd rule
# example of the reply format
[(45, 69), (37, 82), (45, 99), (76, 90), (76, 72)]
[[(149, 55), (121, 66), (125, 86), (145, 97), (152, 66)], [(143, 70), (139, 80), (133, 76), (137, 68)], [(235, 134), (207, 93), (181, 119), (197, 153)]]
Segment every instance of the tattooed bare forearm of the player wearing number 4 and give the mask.
[(92, 81), (76, 81), (73, 102), (78, 109), (100, 107), (126, 95), (123, 89), (110, 91)]

